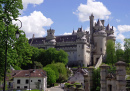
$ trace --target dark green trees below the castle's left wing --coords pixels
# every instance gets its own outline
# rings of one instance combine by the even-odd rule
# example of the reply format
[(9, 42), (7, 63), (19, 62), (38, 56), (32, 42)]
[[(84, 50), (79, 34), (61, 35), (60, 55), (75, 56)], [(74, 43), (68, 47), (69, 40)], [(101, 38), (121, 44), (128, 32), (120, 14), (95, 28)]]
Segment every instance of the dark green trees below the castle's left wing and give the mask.
[(32, 50), (33, 50), (31, 58), (32, 62), (38, 61), (43, 66), (51, 64), (53, 62), (54, 63), (61, 62), (64, 64), (68, 63), (68, 54), (63, 50), (57, 51), (55, 48), (49, 48), (47, 50), (44, 50), (35, 47), (32, 47)]

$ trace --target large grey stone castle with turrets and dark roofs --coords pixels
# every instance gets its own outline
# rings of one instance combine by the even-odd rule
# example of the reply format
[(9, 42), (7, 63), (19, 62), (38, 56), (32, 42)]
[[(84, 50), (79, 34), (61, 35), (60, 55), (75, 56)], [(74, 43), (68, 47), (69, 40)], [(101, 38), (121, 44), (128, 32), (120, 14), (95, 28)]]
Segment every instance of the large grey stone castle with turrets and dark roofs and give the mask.
[(47, 30), (46, 37), (31, 38), (31, 46), (38, 48), (56, 48), (68, 53), (68, 66), (95, 65), (99, 67), (105, 61), (107, 40), (115, 41), (113, 26), (104, 26), (104, 20), (94, 23), (94, 16), (91, 14), (90, 32), (78, 28), (71, 35), (55, 36), (55, 30)]

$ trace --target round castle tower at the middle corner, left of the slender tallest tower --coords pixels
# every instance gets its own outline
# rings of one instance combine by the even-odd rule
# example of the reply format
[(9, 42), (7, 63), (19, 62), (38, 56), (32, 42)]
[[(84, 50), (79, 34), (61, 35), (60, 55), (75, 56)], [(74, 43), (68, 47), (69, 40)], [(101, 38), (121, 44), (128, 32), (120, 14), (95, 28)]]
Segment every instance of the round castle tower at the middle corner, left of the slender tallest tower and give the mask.
[(77, 31), (77, 61), (80, 66), (87, 67), (87, 64), (89, 63), (89, 60), (87, 59), (87, 39), (85, 36), (86, 32), (82, 30), (82, 28), (79, 28)]

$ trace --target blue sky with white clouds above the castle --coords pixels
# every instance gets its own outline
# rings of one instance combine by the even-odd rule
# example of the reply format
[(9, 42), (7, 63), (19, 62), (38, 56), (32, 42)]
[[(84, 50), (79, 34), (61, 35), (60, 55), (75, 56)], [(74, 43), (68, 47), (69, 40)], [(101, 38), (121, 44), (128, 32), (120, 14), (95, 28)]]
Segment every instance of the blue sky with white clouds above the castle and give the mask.
[(45, 37), (47, 29), (55, 35), (71, 34), (81, 26), (89, 31), (89, 16), (104, 19), (105, 26), (114, 26), (116, 41), (123, 45), (130, 38), (130, 0), (22, 0), (18, 17), (27, 38)]

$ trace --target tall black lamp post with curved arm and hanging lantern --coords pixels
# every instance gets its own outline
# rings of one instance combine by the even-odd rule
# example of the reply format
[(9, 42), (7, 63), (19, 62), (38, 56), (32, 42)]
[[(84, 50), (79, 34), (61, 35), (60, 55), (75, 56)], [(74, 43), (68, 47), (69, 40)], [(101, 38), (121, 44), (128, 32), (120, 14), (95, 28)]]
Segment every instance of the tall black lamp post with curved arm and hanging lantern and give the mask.
[[(12, 19), (12, 20), (19, 20), (19, 19)], [(7, 68), (7, 50), (8, 50), (8, 47), (7, 47), (7, 42), (8, 42), (8, 26), (10, 24), (10, 21), (6, 21), (6, 19), (4, 19), (5, 23), (7, 23), (7, 37), (6, 37), (6, 49), (5, 49), (5, 66), (4, 66), (4, 86), (3, 86), (3, 91), (5, 91), (5, 84), (6, 84), (6, 68)], [(20, 20), (19, 20), (20, 21)], [(21, 27), (22, 27), (22, 22), (20, 21), (21, 23)], [(21, 27), (19, 27), (18, 29), (20, 29)], [(16, 38), (19, 38), (19, 31), (16, 31), (15, 35), (16, 35)]]

